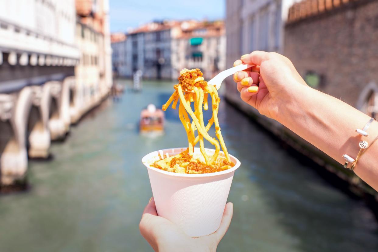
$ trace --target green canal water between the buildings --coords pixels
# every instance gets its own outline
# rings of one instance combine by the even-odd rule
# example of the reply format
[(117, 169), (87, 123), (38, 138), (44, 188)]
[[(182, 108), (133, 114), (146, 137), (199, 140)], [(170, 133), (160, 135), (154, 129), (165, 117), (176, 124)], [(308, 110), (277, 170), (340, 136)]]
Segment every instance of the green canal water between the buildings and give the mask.
[[(0, 196), (0, 252), (151, 251), (138, 229), (152, 196), (140, 160), (187, 142), (177, 111), (166, 112), (166, 133), (156, 138), (138, 134), (138, 119), (148, 102), (161, 106), (171, 93), (172, 83), (145, 81), (141, 93), (109, 99), (72, 127), (65, 142), (53, 144), (52, 160), (30, 161), (30, 189)], [(218, 251), (378, 251), (377, 223), (362, 201), (325, 182), (224, 100), (219, 119), (242, 165)]]

